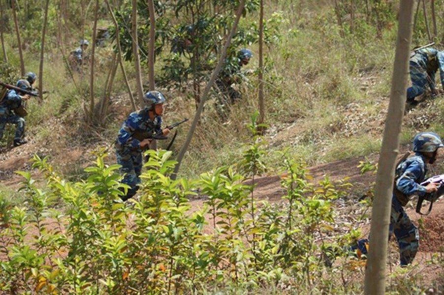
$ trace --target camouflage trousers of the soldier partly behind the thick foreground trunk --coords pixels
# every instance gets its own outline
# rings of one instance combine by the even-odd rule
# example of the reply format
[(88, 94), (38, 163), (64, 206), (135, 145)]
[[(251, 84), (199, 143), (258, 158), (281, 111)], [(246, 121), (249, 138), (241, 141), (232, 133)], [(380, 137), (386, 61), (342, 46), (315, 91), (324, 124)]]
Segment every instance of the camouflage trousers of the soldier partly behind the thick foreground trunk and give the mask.
[[(406, 211), (399, 203), (395, 196), (392, 196), (392, 207), (390, 212), (390, 226), (388, 231), (388, 239), (395, 234), (399, 245), (399, 258), (401, 266), (407, 266), (412, 263), (419, 248), (419, 232), (417, 227), (412, 223)], [(367, 255), (366, 244), (369, 240), (364, 238), (351, 247), (354, 251), (359, 249), (362, 254)]]

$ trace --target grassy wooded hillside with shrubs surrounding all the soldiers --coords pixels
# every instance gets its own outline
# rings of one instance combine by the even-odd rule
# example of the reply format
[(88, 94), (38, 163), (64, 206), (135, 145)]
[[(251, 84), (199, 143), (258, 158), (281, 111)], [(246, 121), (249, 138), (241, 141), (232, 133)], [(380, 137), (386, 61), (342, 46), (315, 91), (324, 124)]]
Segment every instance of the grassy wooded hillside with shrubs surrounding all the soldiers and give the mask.
[[(372, 185), (328, 175), (314, 183), (307, 166), (368, 156), (357, 170), (375, 170), (399, 1), (246, 1), (226, 59), (234, 62), (239, 48), (254, 57), (240, 85), (244, 99), (224, 119), (214, 109), (219, 94), (206, 83), (223, 60), (238, 1), (2, 0), (0, 7), (0, 79), (14, 84), (34, 71), (42, 97), (27, 104), (30, 143), (12, 149), (12, 126), (0, 142), (7, 164), (1, 171), (2, 290), (363, 292), (362, 261), (327, 268), (321, 253), (362, 236), (353, 222), (368, 220), (371, 201), (356, 208), (356, 200), (371, 196)], [(412, 46), (435, 42), (443, 49), (443, 27), (442, 1), (415, 2)], [(91, 63), (73, 72), (69, 52), (81, 39), (93, 45), (108, 28), (111, 37), (88, 49)], [(178, 51), (189, 34), (190, 47)], [(178, 128), (170, 152), (151, 154), (144, 187), (128, 207), (118, 201), (112, 144), (153, 82), (167, 98), (165, 122), (195, 118), (199, 108), (201, 114), (194, 126)], [(442, 99), (423, 99), (407, 110), (404, 145), (418, 131), (444, 134)], [(165, 176), (178, 168), (176, 155), (183, 159), (173, 180)], [(11, 181), (16, 170), (20, 181)], [(275, 175), (282, 201), (258, 198), (255, 179)], [(202, 207), (192, 207), (193, 199)], [(356, 209), (346, 222), (344, 204)], [(442, 248), (435, 252), (431, 263), (440, 271), (434, 280), (423, 280), (414, 266), (398, 269), (388, 292), (442, 292)]]

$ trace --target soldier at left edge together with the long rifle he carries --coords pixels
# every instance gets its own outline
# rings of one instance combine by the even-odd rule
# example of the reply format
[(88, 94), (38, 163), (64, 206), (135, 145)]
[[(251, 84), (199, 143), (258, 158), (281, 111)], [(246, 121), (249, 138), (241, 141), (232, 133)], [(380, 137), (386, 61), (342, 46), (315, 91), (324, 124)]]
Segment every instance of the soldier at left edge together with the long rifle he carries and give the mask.
[(18, 147), (27, 143), (24, 139), (25, 135), (25, 119), (27, 115), (24, 108), (24, 102), (27, 101), (30, 96), (38, 96), (31, 92), (31, 84), (27, 80), (17, 81), (16, 86), (5, 84), (0, 82), (0, 85), (5, 89), (3, 94), (0, 93), (0, 140), (3, 138), (4, 128), (6, 123), (16, 125), (16, 131), (14, 136), (14, 147)]

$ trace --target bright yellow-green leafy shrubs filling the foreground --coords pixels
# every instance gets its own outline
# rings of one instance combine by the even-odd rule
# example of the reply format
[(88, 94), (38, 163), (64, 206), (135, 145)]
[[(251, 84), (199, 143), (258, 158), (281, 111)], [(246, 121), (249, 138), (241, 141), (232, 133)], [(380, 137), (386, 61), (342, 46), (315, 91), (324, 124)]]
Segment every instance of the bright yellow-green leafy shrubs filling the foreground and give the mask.
[[(250, 177), (259, 163), (256, 148), (245, 152), (242, 170)], [(285, 282), (308, 288), (323, 280), (319, 240), (331, 231), (331, 201), (344, 194), (341, 187), (311, 184), (304, 165), (282, 152), (284, 201), (269, 204), (255, 200), (254, 184), (236, 166), (172, 180), (171, 152), (148, 153), (139, 195), (126, 204), (119, 166), (105, 165), (106, 155), (97, 156), (80, 182), (63, 179), (46, 158), (34, 156), (45, 189), (19, 172), (26, 202), (0, 199), (1, 290), (190, 294)], [(202, 208), (192, 210), (192, 198)]]

